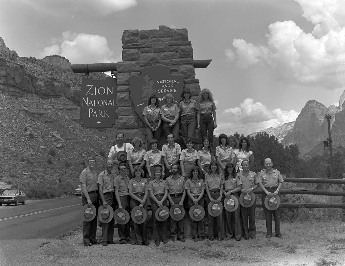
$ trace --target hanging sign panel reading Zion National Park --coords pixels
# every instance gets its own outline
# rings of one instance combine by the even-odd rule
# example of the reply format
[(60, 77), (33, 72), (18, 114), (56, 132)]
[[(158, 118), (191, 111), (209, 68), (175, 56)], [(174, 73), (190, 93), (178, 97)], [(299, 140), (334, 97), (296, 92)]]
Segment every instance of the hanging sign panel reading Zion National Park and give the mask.
[(115, 78), (84, 78), (80, 89), (80, 119), (87, 128), (115, 125), (117, 82)]

